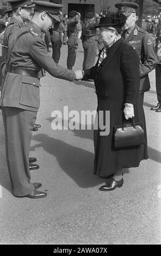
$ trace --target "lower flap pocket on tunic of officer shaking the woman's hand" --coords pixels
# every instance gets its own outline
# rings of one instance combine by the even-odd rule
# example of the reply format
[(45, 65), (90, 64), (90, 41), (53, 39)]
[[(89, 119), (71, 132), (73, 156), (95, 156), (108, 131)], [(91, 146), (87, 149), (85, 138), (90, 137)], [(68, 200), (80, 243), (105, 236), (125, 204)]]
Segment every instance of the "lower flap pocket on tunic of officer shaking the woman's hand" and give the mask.
[(29, 107), (40, 107), (40, 82), (38, 78), (22, 76), (20, 104)]

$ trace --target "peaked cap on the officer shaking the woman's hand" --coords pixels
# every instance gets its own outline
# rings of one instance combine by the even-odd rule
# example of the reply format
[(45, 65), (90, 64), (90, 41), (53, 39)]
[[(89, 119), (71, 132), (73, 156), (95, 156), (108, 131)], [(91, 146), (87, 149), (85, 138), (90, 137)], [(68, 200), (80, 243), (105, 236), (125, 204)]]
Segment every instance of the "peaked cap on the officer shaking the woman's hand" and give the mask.
[(54, 4), (45, 1), (33, 1), (35, 4), (34, 10), (36, 11), (45, 11), (49, 16), (51, 16), (54, 20), (59, 20), (59, 11), (63, 7), (61, 4)]

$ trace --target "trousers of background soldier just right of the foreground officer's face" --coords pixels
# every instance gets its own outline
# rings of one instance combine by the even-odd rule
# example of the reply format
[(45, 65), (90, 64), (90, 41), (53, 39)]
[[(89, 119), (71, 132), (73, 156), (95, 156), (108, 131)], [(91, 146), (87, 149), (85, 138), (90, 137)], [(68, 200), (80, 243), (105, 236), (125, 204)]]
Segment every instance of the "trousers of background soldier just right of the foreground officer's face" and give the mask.
[(60, 49), (62, 46), (61, 36), (60, 35), (52, 35), (51, 42), (52, 42), (52, 48), (53, 48), (52, 58), (53, 58), (54, 62), (58, 63), (59, 59), (60, 59)]

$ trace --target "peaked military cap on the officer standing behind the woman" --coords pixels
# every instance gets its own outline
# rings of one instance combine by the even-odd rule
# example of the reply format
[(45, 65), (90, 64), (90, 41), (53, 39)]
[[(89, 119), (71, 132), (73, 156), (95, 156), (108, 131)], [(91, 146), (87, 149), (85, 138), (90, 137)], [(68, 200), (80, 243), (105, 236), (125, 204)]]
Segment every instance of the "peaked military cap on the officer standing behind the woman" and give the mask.
[(139, 5), (131, 2), (122, 2), (115, 4), (115, 7), (119, 12), (122, 12), (125, 16), (129, 16), (132, 13), (136, 13), (136, 10), (139, 8)]

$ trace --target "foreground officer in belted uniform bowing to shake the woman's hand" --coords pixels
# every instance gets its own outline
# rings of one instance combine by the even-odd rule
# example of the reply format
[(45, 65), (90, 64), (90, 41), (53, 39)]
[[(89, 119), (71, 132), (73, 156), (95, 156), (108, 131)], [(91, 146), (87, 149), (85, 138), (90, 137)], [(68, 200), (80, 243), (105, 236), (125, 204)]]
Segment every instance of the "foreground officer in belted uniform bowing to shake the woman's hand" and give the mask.
[(36, 190), (40, 182), (30, 182), (28, 154), (36, 114), (40, 106), (38, 72), (45, 69), (54, 77), (68, 81), (81, 79), (82, 71), (71, 71), (55, 64), (47, 51), (42, 32), (59, 21), (63, 5), (35, 1), (31, 22), (9, 37), (8, 72), (1, 93), (6, 157), (11, 185), (17, 197), (42, 198)]

